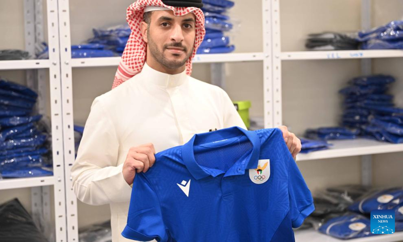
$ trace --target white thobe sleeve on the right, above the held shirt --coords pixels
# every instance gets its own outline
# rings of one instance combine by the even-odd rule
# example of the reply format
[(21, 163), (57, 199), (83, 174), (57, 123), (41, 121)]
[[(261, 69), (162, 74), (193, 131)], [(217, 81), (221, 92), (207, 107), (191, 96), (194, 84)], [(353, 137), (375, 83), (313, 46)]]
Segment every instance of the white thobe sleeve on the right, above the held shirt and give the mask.
[(247, 130), (246, 125), (243, 123), (243, 120), (236, 110), (234, 103), (231, 101), (231, 98), (223, 89), (221, 89), (221, 92), (223, 100), (224, 129), (238, 126)]

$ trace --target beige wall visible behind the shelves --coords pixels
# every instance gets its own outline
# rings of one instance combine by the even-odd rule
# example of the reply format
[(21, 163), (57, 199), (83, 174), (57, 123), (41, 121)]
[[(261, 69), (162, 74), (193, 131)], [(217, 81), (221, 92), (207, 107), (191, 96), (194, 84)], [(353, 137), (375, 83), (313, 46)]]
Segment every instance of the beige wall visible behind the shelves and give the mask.
[[(125, 10), (131, 0), (78, 1), (70, 0), (72, 44), (79, 44), (92, 36), (93, 27), (108, 27), (124, 23)], [(239, 23), (230, 34), (236, 52), (262, 51), (261, 1), (237, 1), (231, 10)], [(373, 1), (373, 26), (403, 16), (400, 0)], [(23, 2), (0, 1), (0, 49), (24, 48)], [(281, 37), (283, 51), (304, 50), (308, 33), (321, 31), (356, 31), (360, 29), (359, 0), (281, 0)], [(241, 34), (242, 33), (242, 34)], [(403, 73), (401, 58), (377, 59), (373, 71), (392, 74), (398, 78), (393, 94), (396, 103), (403, 106)], [(262, 63), (225, 64), (226, 91), (233, 100), (251, 100), (251, 115), (262, 116)], [(116, 67), (76, 68), (73, 70), (74, 120), (84, 124), (93, 99), (110, 90)], [(360, 75), (359, 60), (292, 61), (283, 62), (283, 120), (284, 124), (302, 134), (306, 128), (336, 125), (342, 112), (341, 96), (337, 90)], [(2, 71), (0, 75), (25, 82), (23, 71)], [(210, 82), (210, 65), (196, 64), (193, 74)], [(373, 156), (375, 185), (402, 185), (403, 162), (401, 153)], [(358, 184), (361, 180), (360, 157), (298, 162), (312, 191), (341, 184)], [(393, 167), (393, 169), (390, 169)], [(30, 190), (0, 192), (0, 202), (19, 197), (30, 210)], [(79, 227), (107, 220), (109, 208), (78, 204)]]

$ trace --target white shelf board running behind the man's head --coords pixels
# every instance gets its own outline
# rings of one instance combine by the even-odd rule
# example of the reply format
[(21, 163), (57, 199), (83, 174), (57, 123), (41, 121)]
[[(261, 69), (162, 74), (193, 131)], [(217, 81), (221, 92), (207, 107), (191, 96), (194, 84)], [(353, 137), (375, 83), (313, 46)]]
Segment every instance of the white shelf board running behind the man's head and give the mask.
[[(197, 54), (193, 63), (253, 62), (262, 61), (263, 53)], [(120, 57), (74, 58), (72, 67), (118, 66)]]

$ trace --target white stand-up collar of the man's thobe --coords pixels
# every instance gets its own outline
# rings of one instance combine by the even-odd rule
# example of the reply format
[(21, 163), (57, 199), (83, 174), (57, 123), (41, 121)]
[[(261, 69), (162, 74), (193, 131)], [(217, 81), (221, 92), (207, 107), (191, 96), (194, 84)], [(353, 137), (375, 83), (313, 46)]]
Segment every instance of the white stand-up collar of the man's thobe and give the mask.
[(153, 83), (165, 88), (178, 87), (184, 84), (187, 80), (185, 70), (179, 74), (170, 75), (152, 69), (150, 66), (147, 65), (147, 63), (144, 64), (141, 74), (146, 82)]

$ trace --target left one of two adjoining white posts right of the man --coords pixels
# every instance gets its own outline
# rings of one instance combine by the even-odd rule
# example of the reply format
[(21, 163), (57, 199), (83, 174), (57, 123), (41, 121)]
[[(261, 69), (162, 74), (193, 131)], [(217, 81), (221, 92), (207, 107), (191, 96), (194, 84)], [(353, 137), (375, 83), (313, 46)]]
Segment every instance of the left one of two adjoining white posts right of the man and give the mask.
[[(263, 112), (264, 128), (273, 128), (277, 126), (274, 123), (274, 99), (273, 99), (273, 36), (274, 18), (273, 8), (276, 8), (277, 1), (280, 0), (262, 0), (262, 31), (263, 31)], [(276, 24), (280, 24), (277, 21)], [(276, 30), (277, 31), (277, 30)], [(279, 30), (280, 31), (280, 30)], [(279, 37), (280, 40), (280, 37)], [(276, 43), (276, 42), (274, 42)], [(280, 58), (279, 58), (280, 60)], [(280, 90), (281, 91), (281, 90)], [(281, 103), (279, 103), (281, 108)], [(281, 115), (281, 110), (280, 110)]]

